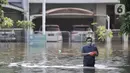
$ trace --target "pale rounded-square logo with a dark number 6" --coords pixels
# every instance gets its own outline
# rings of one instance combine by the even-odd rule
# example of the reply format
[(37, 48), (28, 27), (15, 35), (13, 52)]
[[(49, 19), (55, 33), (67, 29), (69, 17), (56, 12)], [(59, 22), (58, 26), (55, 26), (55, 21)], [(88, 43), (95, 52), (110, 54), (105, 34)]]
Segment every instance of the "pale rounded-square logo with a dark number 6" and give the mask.
[(124, 4), (116, 4), (115, 5), (115, 14), (116, 15), (125, 14), (125, 5)]

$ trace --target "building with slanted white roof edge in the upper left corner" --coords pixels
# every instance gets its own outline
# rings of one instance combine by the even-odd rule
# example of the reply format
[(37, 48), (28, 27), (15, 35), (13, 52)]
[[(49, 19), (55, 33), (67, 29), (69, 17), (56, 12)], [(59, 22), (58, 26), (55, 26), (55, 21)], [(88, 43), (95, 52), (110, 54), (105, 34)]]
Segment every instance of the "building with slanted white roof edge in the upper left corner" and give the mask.
[(8, 0), (8, 5), (3, 5), (4, 16), (10, 17), (14, 21), (23, 20), (26, 0)]

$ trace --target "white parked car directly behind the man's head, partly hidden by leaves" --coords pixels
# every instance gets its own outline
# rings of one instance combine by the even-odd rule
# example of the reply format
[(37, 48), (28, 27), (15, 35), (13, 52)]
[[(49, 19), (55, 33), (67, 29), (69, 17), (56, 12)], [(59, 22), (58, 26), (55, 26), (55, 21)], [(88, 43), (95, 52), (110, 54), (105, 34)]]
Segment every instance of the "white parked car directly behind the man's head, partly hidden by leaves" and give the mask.
[(71, 41), (73, 42), (83, 42), (88, 37), (91, 37), (93, 40), (94, 32), (88, 25), (73, 25), (73, 31), (71, 32)]

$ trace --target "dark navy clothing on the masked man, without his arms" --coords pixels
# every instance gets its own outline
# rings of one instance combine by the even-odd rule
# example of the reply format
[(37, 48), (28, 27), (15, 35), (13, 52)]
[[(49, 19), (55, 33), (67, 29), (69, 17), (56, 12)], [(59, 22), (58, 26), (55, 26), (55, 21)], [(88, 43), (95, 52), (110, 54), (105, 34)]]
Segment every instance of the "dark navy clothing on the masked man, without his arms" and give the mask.
[[(89, 53), (96, 51), (98, 55), (97, 47), (94, 44), (86, 45), (82, 48), (82, 53)], [(95, 56), (85, 55), (83, 60), (84, 66), (94, 67)]]

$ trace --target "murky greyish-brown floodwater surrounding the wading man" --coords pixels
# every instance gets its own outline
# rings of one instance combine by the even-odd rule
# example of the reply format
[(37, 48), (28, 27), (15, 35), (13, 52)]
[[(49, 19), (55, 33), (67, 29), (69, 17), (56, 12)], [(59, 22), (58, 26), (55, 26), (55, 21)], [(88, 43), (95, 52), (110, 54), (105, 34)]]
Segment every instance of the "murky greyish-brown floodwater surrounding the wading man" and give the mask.
[[(96, 57), (95, 68), (82, 66), (83, 57), (79, 53), (83, 45), (85, 43), (75, 42), (68, 45), (61, 42), (47, 42), (46, 55), (39, 54), (39, 57), (43, 58), (42, 61), (23, 62), (28, 58), (24, 43), (1, 43), (0, 73), (130, 72), (130, 46), (128, 44), (124, 45), (120, 42), (113, 42), (111, 45), (96, 43), (99, 56)], [(58, 53), (59, 50), (64, 54)]]

